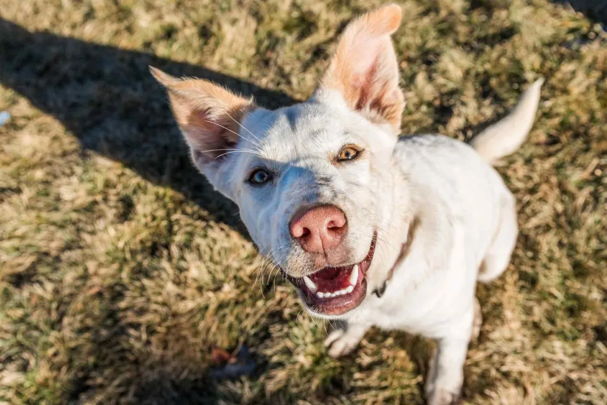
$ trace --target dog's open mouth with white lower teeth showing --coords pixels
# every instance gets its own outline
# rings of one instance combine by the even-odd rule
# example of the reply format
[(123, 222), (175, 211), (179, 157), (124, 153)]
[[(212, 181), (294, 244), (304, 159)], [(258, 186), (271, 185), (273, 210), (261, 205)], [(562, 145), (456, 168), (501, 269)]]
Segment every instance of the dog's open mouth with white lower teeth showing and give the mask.
[(302, 292), (311, 310), (325, 315), (342, 315), (358, 307), (367, 294), (367, 270), (371, 265), (377, 233), (373, 234), (367, 256), (356, 264), (325, 267), (308, 276), (287, 276)]

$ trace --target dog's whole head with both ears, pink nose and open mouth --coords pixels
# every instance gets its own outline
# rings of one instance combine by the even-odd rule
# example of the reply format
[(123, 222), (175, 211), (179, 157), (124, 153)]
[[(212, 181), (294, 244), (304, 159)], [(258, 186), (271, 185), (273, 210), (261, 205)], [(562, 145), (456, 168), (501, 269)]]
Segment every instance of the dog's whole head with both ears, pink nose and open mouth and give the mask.
[(152, 69), (195, 165), (316, 315), (358, 307), (393, 208), (391, 159), (404, 107), (391, 5), (352, 22), (319, 89), (268, 111), (204, 80)]

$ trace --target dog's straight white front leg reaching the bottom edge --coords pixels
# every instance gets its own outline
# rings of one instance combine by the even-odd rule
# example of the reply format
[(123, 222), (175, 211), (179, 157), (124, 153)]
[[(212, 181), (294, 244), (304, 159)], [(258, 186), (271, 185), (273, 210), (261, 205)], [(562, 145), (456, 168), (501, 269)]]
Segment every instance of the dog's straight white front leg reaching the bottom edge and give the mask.
[(444, 328), (444, 336), (436, 339), (438, 348), (430, 359), (426, 381), (429, 405), (456, 404), (464, 382), (464, 362), (472, 337), (474, 310)]

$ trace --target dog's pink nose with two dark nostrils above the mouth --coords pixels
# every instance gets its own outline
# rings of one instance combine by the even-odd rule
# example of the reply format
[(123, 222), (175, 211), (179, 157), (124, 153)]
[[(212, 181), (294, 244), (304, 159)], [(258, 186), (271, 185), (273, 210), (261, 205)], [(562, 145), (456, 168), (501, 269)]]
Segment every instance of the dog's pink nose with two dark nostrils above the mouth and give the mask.
[(336, 248), (346, 230), (344, 213), (333, 205), (316, 206), (291, 220), (291, 235), (309, 253), (326, 254)]

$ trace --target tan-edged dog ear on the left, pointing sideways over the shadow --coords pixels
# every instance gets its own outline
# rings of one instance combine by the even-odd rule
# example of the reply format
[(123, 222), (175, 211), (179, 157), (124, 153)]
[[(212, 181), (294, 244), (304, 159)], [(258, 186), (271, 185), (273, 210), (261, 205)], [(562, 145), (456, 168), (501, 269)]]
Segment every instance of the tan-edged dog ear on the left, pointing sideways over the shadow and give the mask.
[(169, 93), (171, 109), (183, 132), (196, 167), (220, 163), (222, 155), (238, 143), (240, 123), (255, 108), (242, 98), (203, 79), (178, 79), (150, 66), (152, 75)]

